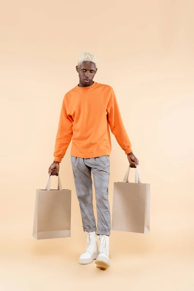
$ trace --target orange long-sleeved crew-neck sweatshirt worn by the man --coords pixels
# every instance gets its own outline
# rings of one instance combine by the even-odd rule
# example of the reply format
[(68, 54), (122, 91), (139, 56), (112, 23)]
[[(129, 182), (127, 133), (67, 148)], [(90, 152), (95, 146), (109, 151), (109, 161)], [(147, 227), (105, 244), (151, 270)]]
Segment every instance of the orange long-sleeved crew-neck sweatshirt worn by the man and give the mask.
[(97, 82), (89, 87), (76, 86), (63, 100), (54, 161), (62, 161), (71, 140), (72, 156), (109, 156), (112, 148), (109, 126), (125, 153), (132, 152), (113, 88)]

